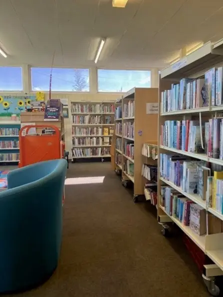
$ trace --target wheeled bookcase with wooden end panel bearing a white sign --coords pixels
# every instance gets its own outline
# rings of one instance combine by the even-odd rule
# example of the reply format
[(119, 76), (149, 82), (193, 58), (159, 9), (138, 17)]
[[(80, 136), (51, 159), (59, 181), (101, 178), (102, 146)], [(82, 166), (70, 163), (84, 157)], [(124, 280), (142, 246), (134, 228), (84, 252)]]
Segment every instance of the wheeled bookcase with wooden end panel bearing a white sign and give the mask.
[(133, 88), (115, 102), (115, 170), (124, 187), (133, 183), (134, 202), (144, 195), (142, 145), (157, 141), (157, 102), (157, 88)]

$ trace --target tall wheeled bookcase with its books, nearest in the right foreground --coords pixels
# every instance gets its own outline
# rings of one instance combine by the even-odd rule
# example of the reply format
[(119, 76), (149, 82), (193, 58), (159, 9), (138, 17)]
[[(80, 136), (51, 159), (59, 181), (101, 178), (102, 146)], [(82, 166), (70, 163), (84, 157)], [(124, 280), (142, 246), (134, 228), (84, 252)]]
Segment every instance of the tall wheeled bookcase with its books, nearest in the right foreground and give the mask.
[[(211, 295), (218, 294), (219, 291), (212, 277), (223, 275), (223, 211), (220, 211), (223, 196), (221, 200), (216, 198), (218, 194), (216, 195), (215, 191), (218, 191), (220, 186), (216, 189), (215, 186), (208, 184), (211, 180), (213, 185), (215, 183), (220, 185), (218, 180), (220, 178), (206, 176), (204, 178), (204, 175), (198, 175), (198, 168), (202, 167), (202, 173), (206, 171), (208, 176), (214, 175), (214, 172), (219, 174), (223, 170), (221, 167), (223, 158), (219, 154), (223, 146), (220, 142), (223, 141), (221, 140), (223, 129), (217, 128), (223, 123), (222, 66), (223, 39), (215, 44), (207, 42), (175, 64), (163, 69), (159, 76), (157, 219), (165, 226), (166, 223), (174, 222), (213, 262), (211, 265), (210, 262), (207, 265), (204, 263), (205, 269), (202, 275)], [(218, 149), (217, 157), (213, 152), (215, 147)], [(186, 162), (192, 163), (191, 170), (185, 165)], [(167, 166), (170, 169), (167, 169)], [(186, 171), (180, 171), (184, 166)], [(192, 193), (191, 172), (193, 172), (193, 182), (196, 181), (193, 184), (193, 186), (196, 184), (194, 186), (196, 188)], [(200, 194), (200, 184), (201, 190), (205, 190), (203, 195)], [(195, 220), (192, 213), (189, 214), (189, 221), (186, 224), (185, 220), (182, 221), (177, 215), (175, 216), (174, 206), (171, 204), (173, 200), (171, 195), (166, 194), (169, 190), (165, 187), (172, 193), (178, 193), (176, 203), (181, 199), (178, 197), (184, 197), (186, 204), (194, 203), (199, 216), (205, 213), (206, 220), (201, 221), (199, 216)], [(163, 188), (167, 191), (164, 198)], [(218, 199), (217, 203), (220, 206), (215, 205), (215, 199)], [(186, 204), (183, 204), (183, 207)], [(184, 211), (183, 208), (183, 214)], [(194, 224), (196, 232), (193, 229)], [(205, 231), (200, 232), (201, 227), (204, 227)], [(163, 228), (163, 235), (166, 235), (167, 230)]]

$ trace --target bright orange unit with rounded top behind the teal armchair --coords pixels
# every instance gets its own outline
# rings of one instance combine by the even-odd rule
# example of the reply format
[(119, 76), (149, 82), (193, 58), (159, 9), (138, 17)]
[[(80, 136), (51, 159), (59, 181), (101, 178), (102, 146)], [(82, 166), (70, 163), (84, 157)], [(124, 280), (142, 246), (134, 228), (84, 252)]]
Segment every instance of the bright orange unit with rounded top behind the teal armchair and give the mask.
[[(53, 134), (28, 134), (28, 131), (31, 128), (39, 130), (45, 129), (46, 126), (47, 128), (54, 130), (55, 132)], [(53, 125), (23, 126), (19, 131), (19, 149), (19, 167), (23, 167), (41, 161), (59, 159), (63, 157), (60, 144), (60, 131), (57, 127)]]

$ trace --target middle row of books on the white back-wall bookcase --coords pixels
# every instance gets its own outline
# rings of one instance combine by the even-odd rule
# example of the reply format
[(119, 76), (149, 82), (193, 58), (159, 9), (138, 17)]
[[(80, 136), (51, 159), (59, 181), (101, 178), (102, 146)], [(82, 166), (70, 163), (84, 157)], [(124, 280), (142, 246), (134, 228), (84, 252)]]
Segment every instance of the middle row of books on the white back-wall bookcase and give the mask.
[(112, 135), (114, 132), (113, 127), (87, 127), (79, 128), (72, 126), (72, 135), (73, 136), (108, 136)]

